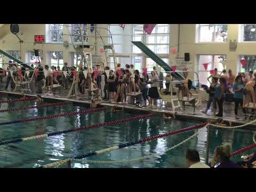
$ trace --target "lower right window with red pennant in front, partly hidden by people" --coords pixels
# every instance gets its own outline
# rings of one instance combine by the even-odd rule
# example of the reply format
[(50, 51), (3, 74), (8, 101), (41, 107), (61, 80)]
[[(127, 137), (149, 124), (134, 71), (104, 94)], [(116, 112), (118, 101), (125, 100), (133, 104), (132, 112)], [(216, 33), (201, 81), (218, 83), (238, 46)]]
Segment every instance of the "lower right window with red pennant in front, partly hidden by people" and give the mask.
[[(226, 55), (198, 55), (198, 76), (202, 85), (210, 86), (207, 78), (211, 75), (210, 70), (218, 69), (219, 73), (223, 70), (222, 62), (226, 61)], [(203, 63), (209, 63), (205, 70)]]

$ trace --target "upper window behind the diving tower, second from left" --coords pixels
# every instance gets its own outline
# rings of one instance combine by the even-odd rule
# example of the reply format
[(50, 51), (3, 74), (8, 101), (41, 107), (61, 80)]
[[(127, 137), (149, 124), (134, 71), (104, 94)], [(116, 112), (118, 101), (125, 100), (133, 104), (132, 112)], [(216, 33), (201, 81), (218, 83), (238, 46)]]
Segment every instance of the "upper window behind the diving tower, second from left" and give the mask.
[[(87, 35), (87, 29), (90, 30), (90, 28), (85, 28), (87, 24), (74, 24), (72, 25), (72, 34), (74, 43), (80, 43), (82, 42), (82, 36), (81, 35)], [(87, 42), (88, 38), (86, 36), (83, 36), (83, 42)]]

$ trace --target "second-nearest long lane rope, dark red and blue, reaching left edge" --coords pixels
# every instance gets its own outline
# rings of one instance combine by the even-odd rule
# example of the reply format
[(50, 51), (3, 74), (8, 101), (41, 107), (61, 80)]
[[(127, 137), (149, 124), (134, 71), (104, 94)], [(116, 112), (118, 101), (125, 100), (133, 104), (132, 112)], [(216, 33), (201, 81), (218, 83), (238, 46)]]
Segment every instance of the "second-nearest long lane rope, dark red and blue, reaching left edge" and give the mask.
[[(102, 108), (99, 108), (99, 109), (102, 110)], [(153, 114), (139, 115), (139, 116), (129, 117), (129, 118), (125, 118), (125, 119), (119, 119), (119, 120), (111, 121), (111, 122), (98, 123), (98, 124), (94, 124), (94, 125), (86, 125), (86, 126), (83, 126), (83, 127), (77, 127), (75, 129), (69, 129), (69, 130), (57, 131), (57, 132), (52, 132), (52, 133), (45, 133), (45, 134), (41, 134), (41, 135), (35, 135), (35, 136), (32, 136), (32, 137), (27, 137), (27, 138), (10, 139), (10, 140), (0, 142), (0, 146), (1, 145), (7, 145), (7, 144), (10, 144), (10, 143), (17, 143), (17, 142), (21, 142), (21, 141), (39, 139), (39, 138), (43, 138), (43, 137), (51, 137), (51, 136), (60, 135), (60, 134), (63, 134), (63, 133), (82, 131), (82, 130), (85, 130), (85, 129), (91, 129), (91, 128), (96, 128), (96, 127), (100, 127), (100, 126), (124, 123), (124, 122), (128, 122), (128, 121), (135, 120), (135, 119), (148, 118), (148, 117), (151, 117), (151, 116), (153, 116)]]

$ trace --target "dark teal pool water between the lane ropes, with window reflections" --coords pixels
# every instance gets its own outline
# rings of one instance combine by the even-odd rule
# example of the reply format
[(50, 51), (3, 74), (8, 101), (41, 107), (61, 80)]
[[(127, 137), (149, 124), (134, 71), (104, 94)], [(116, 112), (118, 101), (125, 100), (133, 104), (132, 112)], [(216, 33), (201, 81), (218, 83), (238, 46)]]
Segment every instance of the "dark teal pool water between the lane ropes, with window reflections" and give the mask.
[[(10, 98), (10, 97), (9, 97)], [(1, 98), (5, 99), (5, 98)], [(34, 105), (34, 101), (1, 103), (1, 109), (13, 107), (27, 107)], [(36, 116), (45, 116), (66, 113), (69, 111), (86, 110), (86, 107), (73, 106), (72, 104), (60, 107), (47, 107), (39, 109), (29, 109), (21, 111), (10, 111), (0, 113), (0, 123), (26, 119)], [(30, 137), (33, 135), (72, 129), (74, 127), (93, 125), (108, 121), (115, 121), (131, 116), (141, 115), (141, 113), (118, 112), (111, 113), (110, 108), (106, 111), (97, 111), (86, 115), (75, 115), (54, 119), (45, 119), (27, 123), (18, 123), (0, 126), (0, 141)], [(0, 146), (0, 167), (39, 167), (47, 163), (59, 161), (68, 157), (83, 155), (90, 151), (105, 149), (121, 143), (131, 142), (157, 134), (181, 129), (190, 125), (198, 124), (198, 121), (163, 121), (160, 115), (154, 115), (148, 119), (138, 119), (123, 124), (97, 127), (54, 137), (29, 140), (25, 142), (13, 143)], [(172, 135), (155, 141), (150, 141), (123, 149), (117, 149), (108, 153), (88, 157), (93, 161), (122, 161), (139, 158), (148, 154), (156, 156), (143, 159), (143, 161), (128, 161), (122, 163), (89, 163), (86, 160), (73, 162), (72, 167), (187, 167), (186, 150), (188, 148), (197, 149), (202, 161), (205, 158), (206, 150), (206, 130), (201, 131), (197, 137), (189, 140), (182, 146), (164, 153), (164, 151), (177, 143), (187, 139), (196, 131)], [(230, 142), (234, 150), (253, 143), (253, 131), (236, 129), (220, 130), (211, 129), (210, 158), (216, 146), (223, 142)], [(245, 154), (253, 153), (254, 150)], [(239, 161), (240, 155), (233, 158)], [(61, 167), (67, 167), (63, 165)]]

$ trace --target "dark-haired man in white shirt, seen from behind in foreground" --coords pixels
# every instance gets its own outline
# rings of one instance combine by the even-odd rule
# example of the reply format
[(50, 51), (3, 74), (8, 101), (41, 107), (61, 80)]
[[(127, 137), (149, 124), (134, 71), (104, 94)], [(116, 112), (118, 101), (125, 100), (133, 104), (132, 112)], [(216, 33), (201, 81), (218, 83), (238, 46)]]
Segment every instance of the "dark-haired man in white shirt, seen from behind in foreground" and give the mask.
[(186, 161), (188, 168), (210, 168), (210, 166), (200, 162), (199, 153), (194, 149), (187, 150)]

